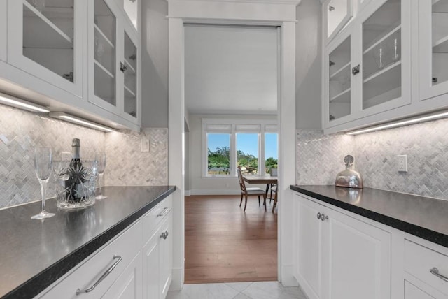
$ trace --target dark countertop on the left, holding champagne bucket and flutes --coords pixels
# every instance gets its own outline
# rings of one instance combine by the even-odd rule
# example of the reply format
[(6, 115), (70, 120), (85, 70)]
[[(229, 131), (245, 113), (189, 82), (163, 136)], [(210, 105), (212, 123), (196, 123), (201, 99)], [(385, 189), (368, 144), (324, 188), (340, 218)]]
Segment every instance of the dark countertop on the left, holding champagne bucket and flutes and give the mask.
[(108, 198), (83, 210), (41, 202), (0, 210), (0, 298), (32, 298), (160, 203), (176, 187), (104, 187)]

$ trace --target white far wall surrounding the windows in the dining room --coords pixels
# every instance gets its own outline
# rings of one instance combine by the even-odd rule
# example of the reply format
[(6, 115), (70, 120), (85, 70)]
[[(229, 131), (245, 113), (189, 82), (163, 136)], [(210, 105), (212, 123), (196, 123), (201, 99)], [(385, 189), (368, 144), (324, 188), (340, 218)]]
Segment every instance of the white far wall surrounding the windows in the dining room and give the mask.
[[(190, 115), (190, 193), (200, 194), (240, 194), (238, 178), (202, 177), (202, 118), (232, 119), (276, 119), (270, 115)], [(265, 185), (251, 185), (265, 188)]]

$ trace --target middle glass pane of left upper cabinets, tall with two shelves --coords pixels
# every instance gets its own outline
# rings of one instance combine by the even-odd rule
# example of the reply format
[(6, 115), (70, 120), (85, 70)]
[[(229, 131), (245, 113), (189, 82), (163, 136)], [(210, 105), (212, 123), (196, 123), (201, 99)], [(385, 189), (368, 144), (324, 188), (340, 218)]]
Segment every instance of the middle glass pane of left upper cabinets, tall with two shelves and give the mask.
[(94, 94), (116, 105), (116, 17), (94, 0)]

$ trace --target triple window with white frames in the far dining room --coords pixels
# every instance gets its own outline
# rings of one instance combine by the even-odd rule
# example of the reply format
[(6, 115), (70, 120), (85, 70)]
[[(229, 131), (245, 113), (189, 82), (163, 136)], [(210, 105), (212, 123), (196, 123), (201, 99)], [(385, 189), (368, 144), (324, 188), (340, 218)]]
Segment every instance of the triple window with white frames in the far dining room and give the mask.
[(202, 119), (204, 176), (267, 173), (276, 167), (278, 135), (274, 119)]

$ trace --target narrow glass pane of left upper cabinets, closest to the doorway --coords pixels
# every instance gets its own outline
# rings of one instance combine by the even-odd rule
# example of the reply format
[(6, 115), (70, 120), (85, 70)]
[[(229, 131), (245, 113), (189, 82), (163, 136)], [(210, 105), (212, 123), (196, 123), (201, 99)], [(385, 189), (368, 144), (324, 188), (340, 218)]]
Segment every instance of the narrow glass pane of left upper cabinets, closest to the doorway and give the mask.
[(137, 47), (125, 32), (125, 112), (137, 117)]

